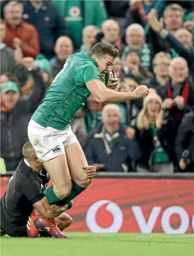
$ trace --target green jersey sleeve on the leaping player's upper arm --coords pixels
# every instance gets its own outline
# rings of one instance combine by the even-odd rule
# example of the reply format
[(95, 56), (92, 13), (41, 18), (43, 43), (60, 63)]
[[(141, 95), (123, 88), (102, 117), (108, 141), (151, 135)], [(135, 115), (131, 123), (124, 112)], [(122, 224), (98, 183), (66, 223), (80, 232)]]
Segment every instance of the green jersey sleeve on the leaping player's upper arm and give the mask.
[(80, 67), (75, 76), (75, 81), (82, 81), (82, 83), (88, 83), (90, 80), (101, 80), (101, 72), (100, 70), (91, 64), (84, 65)]

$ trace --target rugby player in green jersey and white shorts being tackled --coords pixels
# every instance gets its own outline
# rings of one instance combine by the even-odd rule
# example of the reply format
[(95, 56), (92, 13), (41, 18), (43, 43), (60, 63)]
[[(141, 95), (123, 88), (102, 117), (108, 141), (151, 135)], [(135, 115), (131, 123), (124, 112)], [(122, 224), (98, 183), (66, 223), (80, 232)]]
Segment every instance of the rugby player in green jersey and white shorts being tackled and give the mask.
[[(94, 167), (88, 166), (70, 126), (74, 114), (89, 95), (92, 93), (97, 102), (124, 102), (149, 93), (145, 85), (134, 92), (117, 92), (105, 86), (102, 79), (112, 70), (118, 53), (114, 46), (101, 42), (92, 47), (89, 55), (79, 52), (68, 57), (30, 120), (29, 140), (53, 182), (44, 190), (50, 204), (70, 201), (92, 181), (86, 173)], [(118, 79), (112, 72), (110, 87), (115, 88)]]

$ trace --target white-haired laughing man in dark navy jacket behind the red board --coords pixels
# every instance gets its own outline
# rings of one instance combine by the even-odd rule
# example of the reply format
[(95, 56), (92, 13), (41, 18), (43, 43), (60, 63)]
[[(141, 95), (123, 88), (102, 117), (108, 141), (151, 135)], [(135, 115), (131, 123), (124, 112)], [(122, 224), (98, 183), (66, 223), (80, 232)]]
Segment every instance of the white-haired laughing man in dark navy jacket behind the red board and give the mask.
[(102, 124), (89, 135), (84, 153), (98, 171), (129, 171), (131, 160), (140, 158), (138, 142), (126, 135), (120, 125), (120, 109), (116, 104), (103, 108)]

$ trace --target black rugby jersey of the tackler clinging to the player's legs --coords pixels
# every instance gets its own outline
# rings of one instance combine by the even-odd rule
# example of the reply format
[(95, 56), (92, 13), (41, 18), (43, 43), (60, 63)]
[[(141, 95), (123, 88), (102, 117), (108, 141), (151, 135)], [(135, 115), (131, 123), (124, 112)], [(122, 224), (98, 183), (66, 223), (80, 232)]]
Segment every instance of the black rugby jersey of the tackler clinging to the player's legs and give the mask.
[(26, 234), (26, 224), (33, 204), (44, 197), (42, 191), (48, 182), (49, 175), (44, 168), (41, 173), (37, 173), (26, 159), (21, 160), (0, 201), (1, 230), (14, 237)]

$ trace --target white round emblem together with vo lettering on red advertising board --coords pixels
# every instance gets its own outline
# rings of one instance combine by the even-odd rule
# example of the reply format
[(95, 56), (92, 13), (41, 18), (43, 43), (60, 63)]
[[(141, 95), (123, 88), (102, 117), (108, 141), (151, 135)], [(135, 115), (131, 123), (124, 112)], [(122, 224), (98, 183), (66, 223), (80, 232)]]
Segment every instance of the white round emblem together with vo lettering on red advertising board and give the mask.
[[(122, 209), (113, 201), (99, 200), (88, 209), (86, 225), (91, 232), (95, 233), (121, 231), (150, 234), (154, 232), (155, 228), (160, 228), (166, 234), (185, 234), (194, 230), (194, 214), (191, 216), (192, 218), (189, 218), (186, 209), (181, 206), (170, 206), (165, 210), (162, 210), (161, 206), (154, 206), (148, 218), (145, 218), (146, 213), (141, 206), (131, 206), (131, 210), (133, 212), (130, 221), (132, 225), (123, 225)], [(179, 218), (178, 221), (172, 219), (175, 216)], [(137, 225), (139, 230), (136, 229)]]

